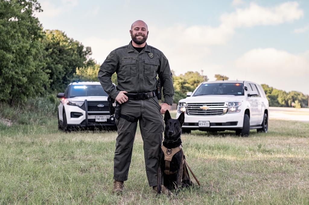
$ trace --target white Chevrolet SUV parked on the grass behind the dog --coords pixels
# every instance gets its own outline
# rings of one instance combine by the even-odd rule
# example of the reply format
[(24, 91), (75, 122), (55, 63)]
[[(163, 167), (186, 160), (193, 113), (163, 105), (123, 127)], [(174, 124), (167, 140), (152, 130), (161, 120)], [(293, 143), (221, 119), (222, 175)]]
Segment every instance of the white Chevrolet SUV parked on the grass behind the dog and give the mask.
[(176, 115), (185, 114), (183, 133), (234, 130), (236, 135), (248, 136), (250, 129), (268, 131), (269, 103), (257, 83), (202, 82), (187, 96), (179, 101)]

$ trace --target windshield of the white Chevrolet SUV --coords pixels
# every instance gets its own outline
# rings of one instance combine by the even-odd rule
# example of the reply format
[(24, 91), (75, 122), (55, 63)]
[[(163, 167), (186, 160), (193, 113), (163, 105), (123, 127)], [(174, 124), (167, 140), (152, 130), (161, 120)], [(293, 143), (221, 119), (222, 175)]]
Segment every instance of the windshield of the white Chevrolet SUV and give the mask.
[(243, 83), (202, 84), (193, 94), (197, 95), (243, 95)]

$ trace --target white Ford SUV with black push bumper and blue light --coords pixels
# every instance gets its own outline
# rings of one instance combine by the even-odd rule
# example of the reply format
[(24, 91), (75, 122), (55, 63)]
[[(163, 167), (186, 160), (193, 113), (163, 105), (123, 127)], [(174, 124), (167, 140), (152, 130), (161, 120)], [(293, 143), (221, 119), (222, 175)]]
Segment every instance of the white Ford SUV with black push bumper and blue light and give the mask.
[(58, 106), (58, 129), (116, 129), (115, 117), (109, 115), (108, 94), (99, 82), (72, 82), (57, 97), (61, 98)]

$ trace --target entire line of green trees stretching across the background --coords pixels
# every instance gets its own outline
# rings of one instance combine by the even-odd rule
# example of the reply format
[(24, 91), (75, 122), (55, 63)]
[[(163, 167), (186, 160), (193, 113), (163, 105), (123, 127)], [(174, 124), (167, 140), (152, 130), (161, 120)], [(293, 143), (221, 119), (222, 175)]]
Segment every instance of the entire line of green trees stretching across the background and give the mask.
[[(27, 98), (63, 92), (70, 82), (97, 81), (99, 66), (90, 58), (91, 48), (60, 30), (43, 30), (35, 12), (42, 12), (36, 0), (0, 1), (0, 101), (11, 105)], [(173, 73), (174, 102), (186, 97), (206, 75), (188, 71)], [(216, 74), (217, 80), (228, 80)], [(117, 83), (116, 73), (112, 81)], [(285, 92), (262, 85), (270, 106), (307, 107), (308, 95)]]

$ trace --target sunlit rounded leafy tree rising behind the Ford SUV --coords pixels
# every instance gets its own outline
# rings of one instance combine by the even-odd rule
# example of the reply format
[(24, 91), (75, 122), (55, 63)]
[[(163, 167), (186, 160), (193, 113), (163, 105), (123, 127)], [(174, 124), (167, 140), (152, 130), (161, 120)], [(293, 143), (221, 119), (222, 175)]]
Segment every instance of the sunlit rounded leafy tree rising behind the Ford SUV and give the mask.
[[(85, 48), (82, 43), (69, 38), (60, 30), (45, 30), (44, 45), (46, 51), (44, 70), (49, 71), (51, 90), (64, 90), (77, 69), (85, 75), (90, 74), (91, 66), (94, 66), (93, 60), (87, 64), (87, 58), (91, 55), (90, 47)], [(85, 66), (89, 67), (88, 70), (81, 71), (80, 68)]]

